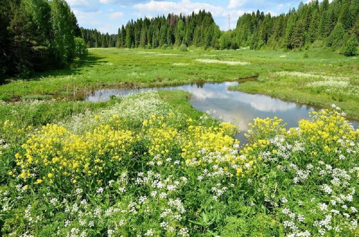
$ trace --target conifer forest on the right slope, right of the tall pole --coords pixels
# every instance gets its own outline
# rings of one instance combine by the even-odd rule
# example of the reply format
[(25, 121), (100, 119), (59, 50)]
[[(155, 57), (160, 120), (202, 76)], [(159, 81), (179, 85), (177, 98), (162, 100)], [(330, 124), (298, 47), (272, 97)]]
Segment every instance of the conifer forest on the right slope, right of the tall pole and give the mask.
[(220, 48), (294, 49), (317, 44), (335, 50), (359, 38), (358, 14), (356, 0), (301, 2), (297, 10), (278, 16), (257, 10), (243, 14), (236, 29), (221, 35)]

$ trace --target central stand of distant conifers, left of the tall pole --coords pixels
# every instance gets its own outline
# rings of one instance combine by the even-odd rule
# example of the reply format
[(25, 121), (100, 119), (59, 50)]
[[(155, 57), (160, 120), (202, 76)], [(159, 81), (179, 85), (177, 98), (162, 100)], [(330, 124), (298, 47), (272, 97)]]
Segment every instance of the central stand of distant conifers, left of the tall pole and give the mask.
[(118, 34), (101, 34), (96, 29), (82, 29), (89, 47), (166, 48), (168, 46), (216, 47), (220, 30), (210, 12), (200, 10), (191, 15), (168, 14), (167, 18), (130, 20), (118, 29)]

